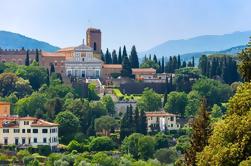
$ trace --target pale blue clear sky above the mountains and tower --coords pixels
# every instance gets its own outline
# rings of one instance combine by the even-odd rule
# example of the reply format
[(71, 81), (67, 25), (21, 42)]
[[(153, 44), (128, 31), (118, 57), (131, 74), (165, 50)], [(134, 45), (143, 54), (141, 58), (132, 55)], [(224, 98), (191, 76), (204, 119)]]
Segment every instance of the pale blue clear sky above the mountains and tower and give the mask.
[(102, 49), (251, 30), (250, 0), (0, 0), (0, 30), (59, 47), (79, 45), (88, 27)]

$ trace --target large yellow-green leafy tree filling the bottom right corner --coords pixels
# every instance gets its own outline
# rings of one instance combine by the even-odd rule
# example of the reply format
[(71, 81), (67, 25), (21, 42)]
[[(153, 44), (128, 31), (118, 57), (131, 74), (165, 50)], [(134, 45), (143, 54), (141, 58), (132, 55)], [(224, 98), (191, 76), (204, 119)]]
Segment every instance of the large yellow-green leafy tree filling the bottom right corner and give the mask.
[[(215, 123), (209, 145), (197, 155), (197, 164), (239, 165), (251, 156), (251, 83), (244, 83), (229, 100), (227, 115)], [(249, 159), (250, 160), (250, 159)]]

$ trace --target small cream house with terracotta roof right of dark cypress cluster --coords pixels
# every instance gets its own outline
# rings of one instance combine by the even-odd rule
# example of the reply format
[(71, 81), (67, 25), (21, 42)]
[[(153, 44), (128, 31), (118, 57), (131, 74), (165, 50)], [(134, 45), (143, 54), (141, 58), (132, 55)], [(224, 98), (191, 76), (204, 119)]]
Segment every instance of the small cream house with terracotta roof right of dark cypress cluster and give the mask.
[(177, 122), (178, 115), (157, 111), (146, 112), (146, 117), (148, 132), (180, 129), (180, 124)]

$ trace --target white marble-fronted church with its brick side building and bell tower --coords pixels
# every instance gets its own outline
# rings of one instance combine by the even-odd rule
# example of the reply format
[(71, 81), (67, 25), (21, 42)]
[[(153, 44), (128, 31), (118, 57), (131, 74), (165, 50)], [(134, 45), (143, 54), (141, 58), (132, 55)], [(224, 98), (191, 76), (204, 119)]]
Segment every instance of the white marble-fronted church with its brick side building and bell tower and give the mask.
[(41, 63), (50, 67), (54, 64), (56, 72), (68, 77), (95, 79), (101, 75), (103, 61), (101, 54), (101, 31), (89, 28), (86, 31), (86, 44), (67, 47), (55, 53), (42, 52)]

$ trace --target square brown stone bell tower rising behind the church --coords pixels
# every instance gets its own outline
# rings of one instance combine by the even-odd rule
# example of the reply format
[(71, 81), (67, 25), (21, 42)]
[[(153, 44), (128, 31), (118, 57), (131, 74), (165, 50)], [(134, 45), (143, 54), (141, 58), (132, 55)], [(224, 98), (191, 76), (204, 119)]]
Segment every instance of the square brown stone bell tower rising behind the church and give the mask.
[(94, 56), (100, 58), (101, 31), (100, 29), (88, 28), (86, 31), (86, 45), (93, 48)]

